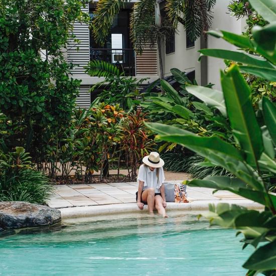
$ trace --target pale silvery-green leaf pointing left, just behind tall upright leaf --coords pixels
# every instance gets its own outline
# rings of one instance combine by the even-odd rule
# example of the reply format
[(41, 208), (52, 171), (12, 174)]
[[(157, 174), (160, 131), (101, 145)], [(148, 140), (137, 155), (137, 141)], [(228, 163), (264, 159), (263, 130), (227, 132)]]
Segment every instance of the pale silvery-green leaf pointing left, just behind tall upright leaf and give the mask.
[(202, 100), (210, 107), (216, 107), (226, 117), (226, 107), (223, 93), (221, 91), (196, 85), (186, 86), (186, 90)]

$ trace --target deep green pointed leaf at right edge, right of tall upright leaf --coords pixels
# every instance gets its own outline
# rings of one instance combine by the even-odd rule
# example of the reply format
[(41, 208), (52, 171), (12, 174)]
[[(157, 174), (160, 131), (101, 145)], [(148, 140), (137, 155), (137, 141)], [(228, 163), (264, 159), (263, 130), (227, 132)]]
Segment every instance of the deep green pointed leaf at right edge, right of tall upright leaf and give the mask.
[(262, 113), (265, 125), (274, 145), (276, 146), (276, 107), (266, 97), (262, 98)]

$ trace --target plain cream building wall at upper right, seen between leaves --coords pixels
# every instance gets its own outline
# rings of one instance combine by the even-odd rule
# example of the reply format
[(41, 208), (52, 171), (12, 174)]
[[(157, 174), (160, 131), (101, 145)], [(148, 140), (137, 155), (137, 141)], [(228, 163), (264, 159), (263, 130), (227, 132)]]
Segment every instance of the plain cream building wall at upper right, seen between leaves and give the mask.
[[(241, 34), (244, 30), (245, 20), (237, 20), (231, 17), (227, 10), (229, 1), (217, 0), (217, 4), (213, 10), (214, 19), (211, 30), (225, 30), (237, 34)], [(224, 42), (222, 39), (217, 39), (209, 36), (207, 40), (207, 47), (214, 49), (228, 49), (235, 50), (236, 47)], [(195, 42), (195, 46), (186, 49), (186, 31), (183, 25), (179, 24), (178, 34), (175, 35), (175, 53), (165, 54), (164, 68), (165, 75), (170, 75), (171, 68), (178, 68), (185, 72), (195, 70), (196, 80), (201, 84), (201, 65), (198, 61), (200, 50), (200, 39)], [(220, 89), (219, 70), (224, 69), (225, 64), (223, 60), (207, 57), (207, 83), (215, 84), (214, 88)]]

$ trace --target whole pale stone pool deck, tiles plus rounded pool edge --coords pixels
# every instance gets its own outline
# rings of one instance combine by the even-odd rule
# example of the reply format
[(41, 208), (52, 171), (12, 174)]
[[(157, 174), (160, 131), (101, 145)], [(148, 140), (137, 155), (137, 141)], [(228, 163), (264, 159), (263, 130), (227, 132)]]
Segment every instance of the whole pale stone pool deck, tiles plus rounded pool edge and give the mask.
[[(181, 183), (182, 180), (170, 181)], [(141, 211), (135, 202), (136, 182), (57, 185), (55, 195), (48, 201), (48, 205), (61, 211), (62, 219), (93, 217), (99, 215), (131, 213), (134, 215), (147, 214), (147, 206)], [(228, 191), (187, 186), (189, 203), (168, 202), (167, 210), (208, 210), (209, 203), (229, 203), (247, 208), (259, 209), (262, 205), (239, 197)]]

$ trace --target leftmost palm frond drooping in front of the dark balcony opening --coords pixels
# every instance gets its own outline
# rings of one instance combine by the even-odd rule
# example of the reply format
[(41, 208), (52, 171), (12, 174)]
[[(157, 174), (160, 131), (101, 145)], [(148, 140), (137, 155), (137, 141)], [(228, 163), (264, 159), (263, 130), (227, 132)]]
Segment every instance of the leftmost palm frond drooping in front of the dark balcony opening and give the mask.
[(103, 46), (108, 36), (113, 18), (124, 8), (129, 0), (99, 0), (92, 20), (93, 34), (96, 43)]

